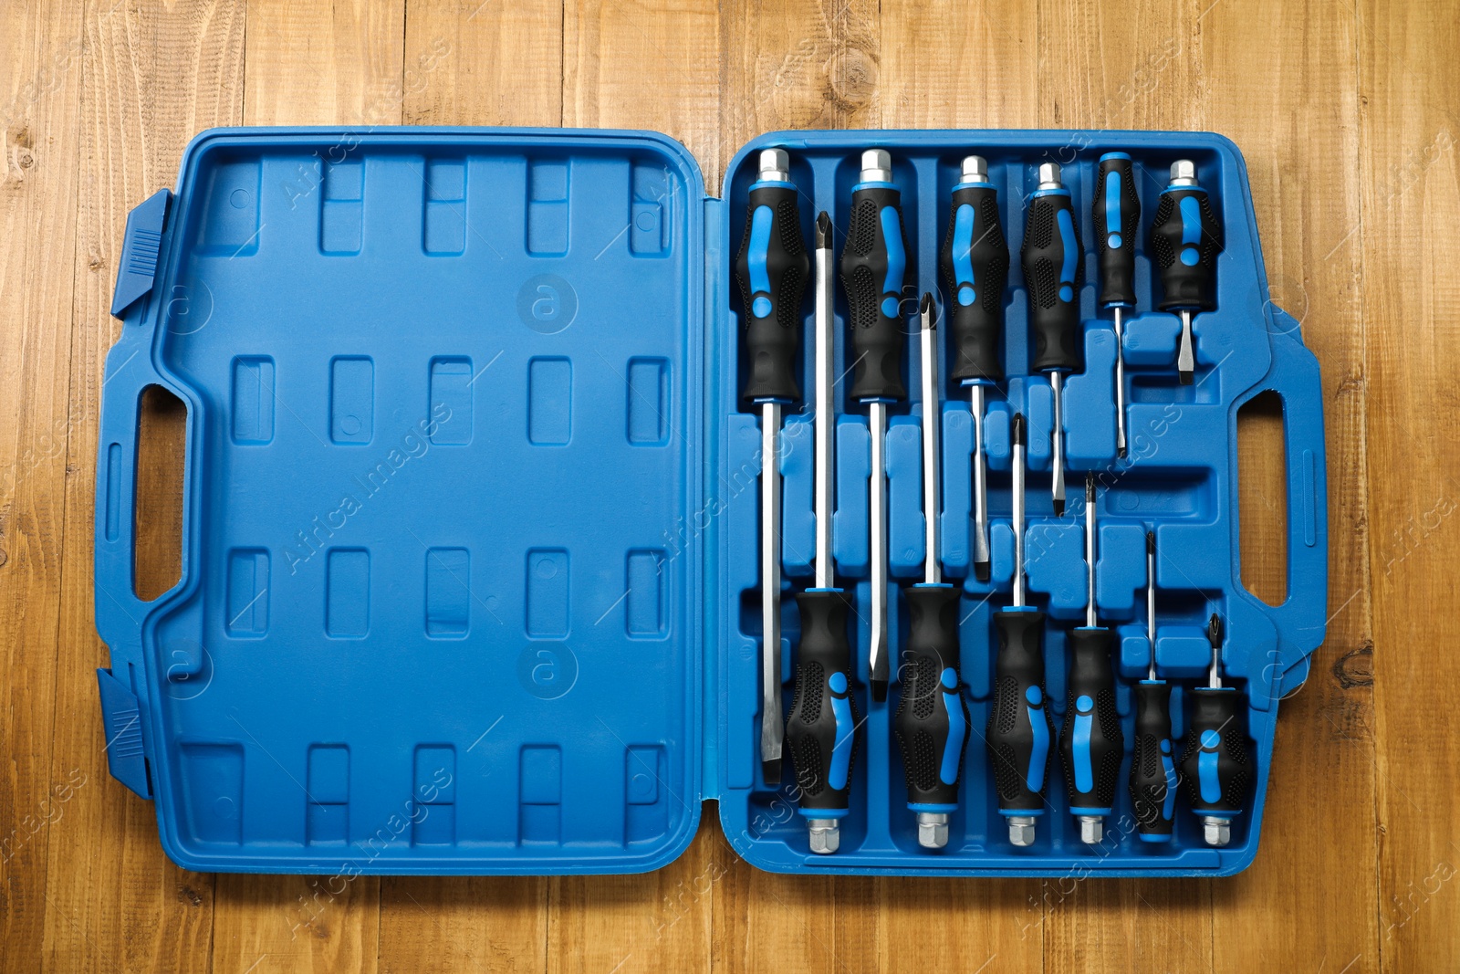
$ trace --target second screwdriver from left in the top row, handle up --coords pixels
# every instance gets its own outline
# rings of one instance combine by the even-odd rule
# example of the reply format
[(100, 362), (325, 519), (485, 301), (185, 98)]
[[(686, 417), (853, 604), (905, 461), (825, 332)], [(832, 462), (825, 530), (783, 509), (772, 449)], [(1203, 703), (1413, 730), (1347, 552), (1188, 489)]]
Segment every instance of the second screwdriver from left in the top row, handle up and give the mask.
[(851, 190), (847, 247), (841, 251), (841, 283), (847, 289), (847, 326), (856, 359), (851, 397), (867, 406), (872, 429), (872, 483), (867, 527), (872, 561), (872, 698), (888, 698), (888, 403), (907, 394), (902, 386), (902, 194), (892, 183), (892, 156), (883, 149), (861, 153), (861, 180)]

